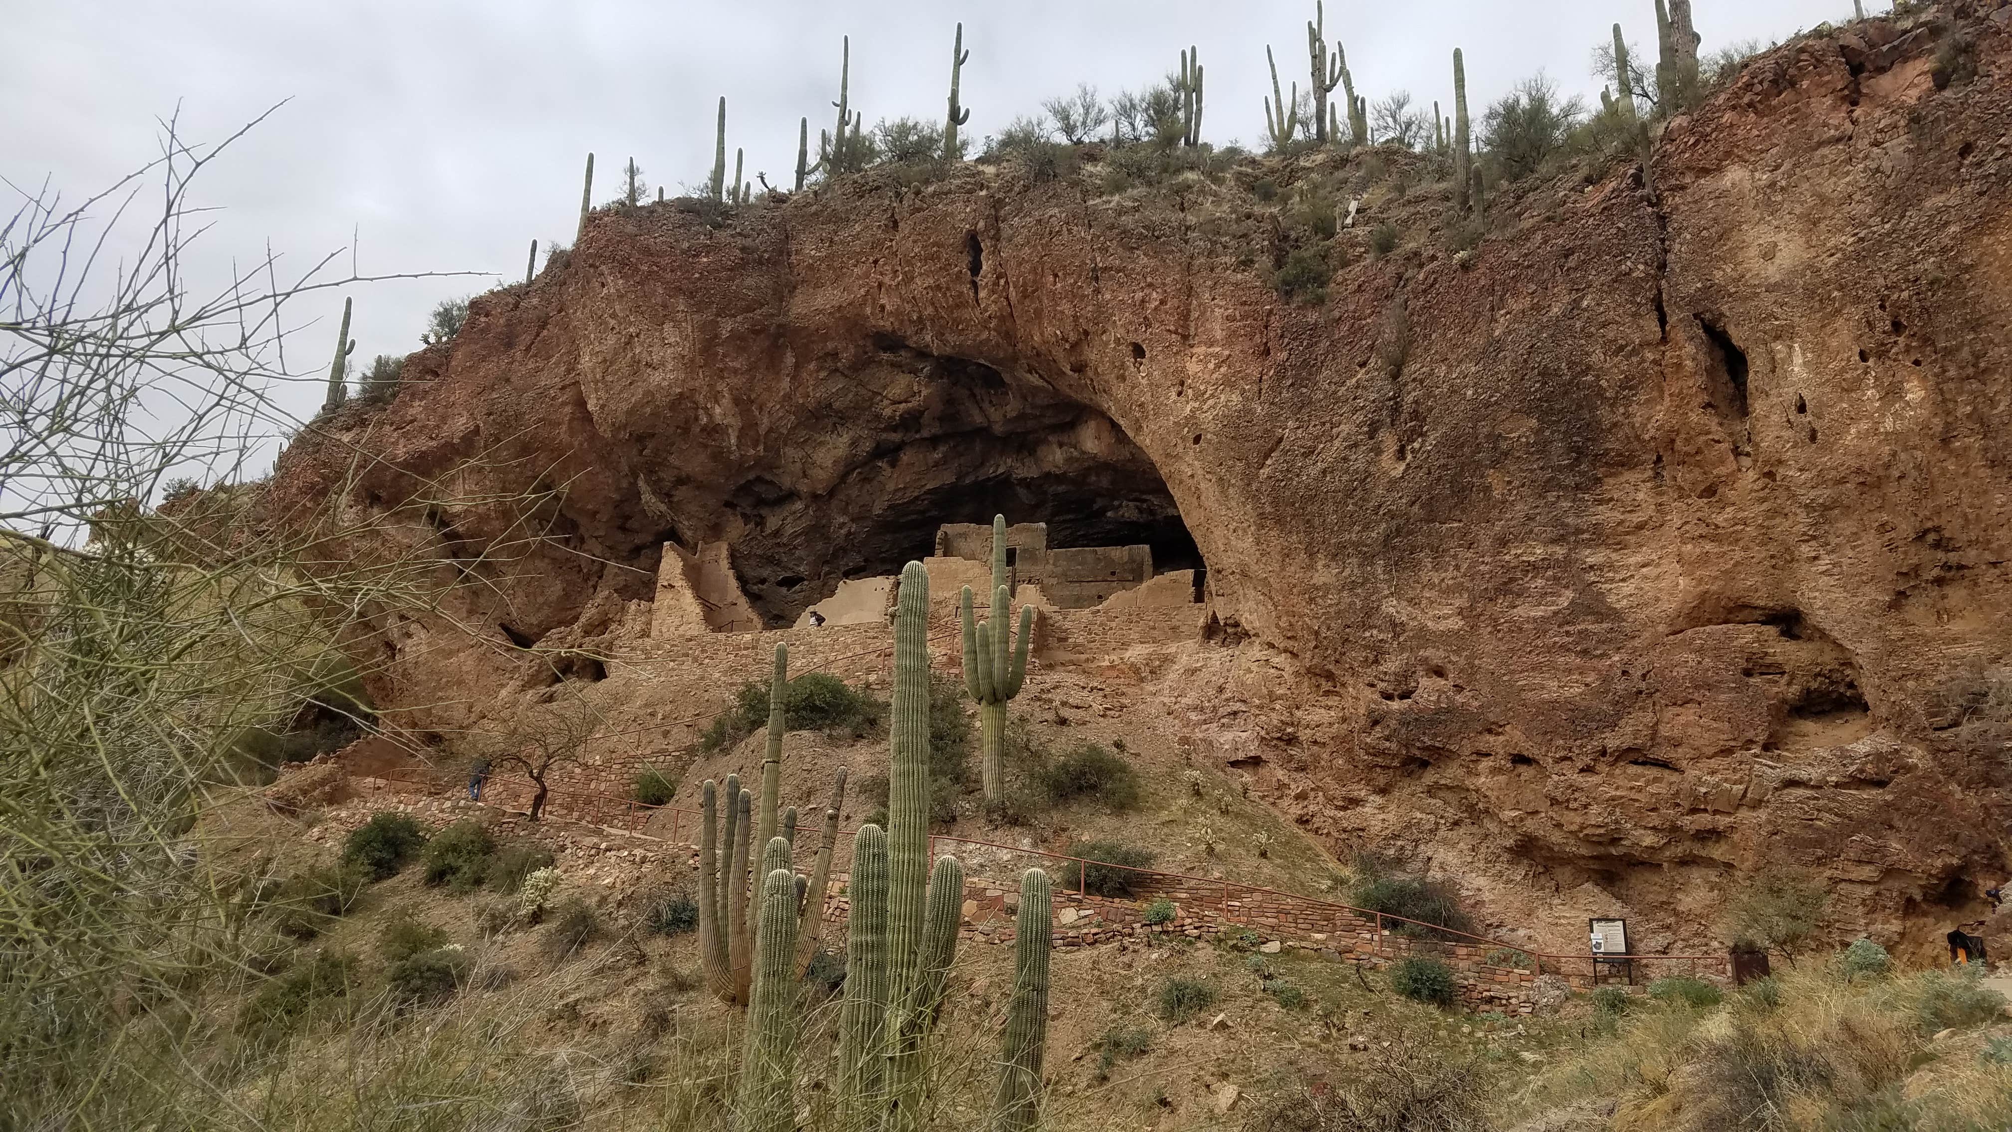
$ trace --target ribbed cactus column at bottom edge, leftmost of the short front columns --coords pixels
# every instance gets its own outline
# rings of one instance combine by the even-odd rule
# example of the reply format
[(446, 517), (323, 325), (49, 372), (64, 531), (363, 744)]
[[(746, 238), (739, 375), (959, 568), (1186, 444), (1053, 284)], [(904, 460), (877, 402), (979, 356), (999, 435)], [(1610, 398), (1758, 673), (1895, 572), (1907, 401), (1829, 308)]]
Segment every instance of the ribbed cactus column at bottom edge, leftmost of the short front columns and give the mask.
[[(789, 860), (783, 838), (765, 858)], [(797, 876), (773, 868), (761, 884), (761, 916), (746, 1037), (740, 1049), (740, 1132), (791, 1132), (797, 1126)]]

